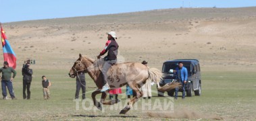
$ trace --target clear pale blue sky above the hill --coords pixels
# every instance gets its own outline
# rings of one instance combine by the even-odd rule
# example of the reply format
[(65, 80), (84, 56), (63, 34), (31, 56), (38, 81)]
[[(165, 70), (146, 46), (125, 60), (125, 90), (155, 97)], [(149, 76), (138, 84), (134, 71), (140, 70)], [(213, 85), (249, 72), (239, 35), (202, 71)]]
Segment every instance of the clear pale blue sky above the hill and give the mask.
[(0, 0), (0, 22), (20, 22), (179, 7), (252, 7), (255, 0)]

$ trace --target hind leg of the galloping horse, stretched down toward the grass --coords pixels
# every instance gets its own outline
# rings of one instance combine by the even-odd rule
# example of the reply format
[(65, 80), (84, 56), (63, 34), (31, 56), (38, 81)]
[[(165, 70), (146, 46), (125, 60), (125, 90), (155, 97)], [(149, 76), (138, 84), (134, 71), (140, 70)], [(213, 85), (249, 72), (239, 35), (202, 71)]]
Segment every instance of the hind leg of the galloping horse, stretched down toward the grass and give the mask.
[(132, 97), (132, 99), (130, 99), (130, 101), (128, 102), (127, 106), (124, 109), (122, 109), (119, 114), (126, 114), (126, 112), (130, 110), (134, 103), (138, 101), (138, 98), (143, 96), (143, 93), (138, 89), (138, 85), (132, 85), (130, 87), (132, 88), (133, 91), (136, 92), (136, 97)]

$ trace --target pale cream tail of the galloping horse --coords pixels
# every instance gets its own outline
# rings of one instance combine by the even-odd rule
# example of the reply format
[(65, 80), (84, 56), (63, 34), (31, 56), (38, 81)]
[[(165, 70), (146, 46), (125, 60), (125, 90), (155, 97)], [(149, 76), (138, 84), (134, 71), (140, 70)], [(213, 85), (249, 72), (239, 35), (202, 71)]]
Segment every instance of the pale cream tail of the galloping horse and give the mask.
[(163, 73), (155, 68), (149, 69), (149, 79), (157, 84), (163, 79)]

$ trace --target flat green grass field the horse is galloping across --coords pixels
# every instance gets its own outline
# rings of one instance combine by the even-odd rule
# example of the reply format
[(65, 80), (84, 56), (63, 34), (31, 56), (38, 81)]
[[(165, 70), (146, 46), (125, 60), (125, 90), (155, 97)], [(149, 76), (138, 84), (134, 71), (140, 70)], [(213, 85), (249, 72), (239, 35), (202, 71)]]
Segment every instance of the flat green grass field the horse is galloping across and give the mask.
[[(42, 75), (46, 75), (52, 82), (49, 100), (43, 99)], [(93, 80), (86, 76), (86, 98), (91, 99), (91, 91), (95, 90), (93, 87), (96, 86)], [(255, 73), (252, 72), (203, 72), (202, 95), (186, 97), (184, 100), (178, 98), (174, 101), (174, 112), (170, 112), (170, 115), (182, 109), (199, 113), (203, 119), (205, 118), (204, 120), (209, 120), (208, 115), (220, 116), (224, 120), (256, 120), (254, 115), (256, 114), (255, 77)], [(75, 79), (68, 77), (68, 71), (34, 70), (31, 99), (24, 100), (22, 99), (22, 78), (18, 75), (14, 81), (14, 90), (18, 99), (0, 99), (0, 120), (180, 120), (179, 118), (149, 117), (147, 111), (140, 109), (142, 99), (137, 104), (137, 110), (130, 110), (126, 115), (120, 115), (119, 108), (123, 108), (126, 101), (125, 88), (123, 88), (124, 94), (120, 95), (122, 102), (116, 104), (117, 110), (109, 110), (110, 106), (104, 106), (105, 112), (99, 110), (94, 112), (82, 108), (82, 102), (77, 110), (74, 102), (75, 82)], [(152, 89), (156, 90), (155, 85)], [(165, 96), (157, 97), (157, 94), (153, 93), (151, 102), (169, 98), (166, 93)], [(97, 98), (99, 99), (99, 96)], [(88, 106), (88, 104), (85, 105)], [(182, 118), (182, 120), (188, 120), (188, 118)]]

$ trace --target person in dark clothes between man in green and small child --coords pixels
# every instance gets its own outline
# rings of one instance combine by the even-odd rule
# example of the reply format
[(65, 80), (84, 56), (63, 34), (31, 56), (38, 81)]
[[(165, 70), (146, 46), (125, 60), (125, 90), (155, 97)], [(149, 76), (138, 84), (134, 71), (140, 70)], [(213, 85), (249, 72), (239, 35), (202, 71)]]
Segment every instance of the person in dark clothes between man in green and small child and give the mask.
[[(30, 99), (30, 85), (32, 81), (32, 74), (33, 71), (30, 69), (30, 64), (26, 63), (26, 65), (22, 68), (22, 75), (23, 75), (23, 99)], [(26, 89), (27, 95), (26, 96)]]

